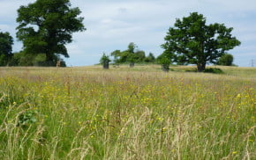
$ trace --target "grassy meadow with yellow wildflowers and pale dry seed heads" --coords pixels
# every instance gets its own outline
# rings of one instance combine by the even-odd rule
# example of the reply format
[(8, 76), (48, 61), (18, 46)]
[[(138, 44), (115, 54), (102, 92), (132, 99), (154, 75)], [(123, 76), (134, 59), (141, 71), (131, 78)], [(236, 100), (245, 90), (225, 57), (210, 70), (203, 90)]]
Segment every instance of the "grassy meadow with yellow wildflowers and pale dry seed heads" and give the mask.
[(0, 68), (0, 159), (255, 159), (256, 68)]

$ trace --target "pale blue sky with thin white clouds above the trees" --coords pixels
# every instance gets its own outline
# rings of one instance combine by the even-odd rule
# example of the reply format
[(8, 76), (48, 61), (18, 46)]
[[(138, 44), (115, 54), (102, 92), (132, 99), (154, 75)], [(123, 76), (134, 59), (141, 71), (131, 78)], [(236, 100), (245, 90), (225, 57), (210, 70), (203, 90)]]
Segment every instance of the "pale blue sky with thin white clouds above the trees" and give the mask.
[[(17, 10), (20, 5), (35, 0), (0, 0), (0, 30), (15, 38)], [(102, 53), (124, 50), (130, 42), (139, 49), (162, 54), (170, 26), (176, 18), (198, 11), (207, 18), (207, 24), (223, 23), (233, 27), (232, 34), (242, 42), (230, 50), (239, 66), (256, 66), (256, 1), (255, 0), (71, 0), (79, 7), (87, 31), (74, 33), (73, 42), (67, 45), (68, 66), (85, 66), (99, 62)], [(22, 43), (15, 39), (13, 51)]]

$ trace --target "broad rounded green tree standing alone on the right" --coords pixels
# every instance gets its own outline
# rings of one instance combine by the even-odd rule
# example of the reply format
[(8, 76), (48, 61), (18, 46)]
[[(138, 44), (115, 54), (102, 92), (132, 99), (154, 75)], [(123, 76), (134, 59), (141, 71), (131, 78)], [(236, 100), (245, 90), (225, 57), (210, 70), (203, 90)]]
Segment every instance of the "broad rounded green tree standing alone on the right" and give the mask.
[(171, 62), (196, 64), (198, 71), (204, 71), (207, 63), (215, 63), (226, 51), (240, 45), (232, 30), (223, 24), (206, 25), (206, 18), (193, 12), (189, 17), (177, 18), (162, 48)]

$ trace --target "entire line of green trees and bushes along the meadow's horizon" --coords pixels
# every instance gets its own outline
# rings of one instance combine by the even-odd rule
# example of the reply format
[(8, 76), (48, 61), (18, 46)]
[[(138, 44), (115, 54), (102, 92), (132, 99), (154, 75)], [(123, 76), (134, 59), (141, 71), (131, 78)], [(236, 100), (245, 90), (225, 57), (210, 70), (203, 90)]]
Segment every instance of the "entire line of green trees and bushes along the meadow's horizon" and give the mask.
[[(61, 62), (65, 66), (62, 57), (69, 57), (65, 45), (72, 42), (72, 33), (86, 31), (80, 13), (78, 7), (72, 8), (70, 0), (36, 0), (20, 6), (16, 36), (23, 48), (13, 54), (10, 33), (0, 32), (0, 65), (56, 66)], [(198, 71), (204, 71), (207, 64), (232, 65), (233, 56), (227, 51), (241, 43), (232, 36), (232, 30), (224, 24), (207, 25), (202, 14), (192, 12), (169, 27), (161, 46), (164, 51), (157, 58), (152, 53), (146, 56), (134, 43), (110, 56), (113, 63), (129, 63), (131, 67), (139, 62), (158, 62), (168, 70), (170, 64), (195, 64)], [(103, 55), (101, 62), (109, 63), (109, 56)]]

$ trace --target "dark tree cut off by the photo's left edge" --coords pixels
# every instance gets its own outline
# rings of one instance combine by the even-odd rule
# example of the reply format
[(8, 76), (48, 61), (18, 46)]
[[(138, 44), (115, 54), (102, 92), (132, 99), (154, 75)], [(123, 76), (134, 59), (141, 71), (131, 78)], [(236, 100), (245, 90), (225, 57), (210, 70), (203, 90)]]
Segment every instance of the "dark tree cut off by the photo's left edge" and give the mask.
[(5, 66), (11, 59), (13, 39), (10, 33), (0, 32), (0, 66)]

